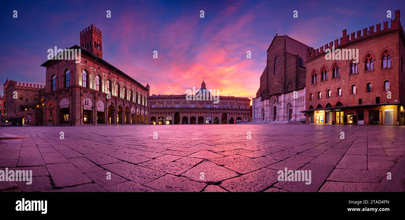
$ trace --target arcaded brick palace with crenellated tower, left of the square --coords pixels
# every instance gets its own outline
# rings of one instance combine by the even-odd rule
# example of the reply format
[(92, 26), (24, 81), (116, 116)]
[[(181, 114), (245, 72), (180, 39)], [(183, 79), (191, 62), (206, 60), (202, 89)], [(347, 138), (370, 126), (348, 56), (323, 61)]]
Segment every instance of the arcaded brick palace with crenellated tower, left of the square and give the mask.
[(49, 59), (41, 65), (47, 68), (44, 124), (147, 123), (149, 85), (102, 59), (102, 32), (96, 26), (80, 32), (80, 45), (70, 49), (81, 49), (81, 59)]

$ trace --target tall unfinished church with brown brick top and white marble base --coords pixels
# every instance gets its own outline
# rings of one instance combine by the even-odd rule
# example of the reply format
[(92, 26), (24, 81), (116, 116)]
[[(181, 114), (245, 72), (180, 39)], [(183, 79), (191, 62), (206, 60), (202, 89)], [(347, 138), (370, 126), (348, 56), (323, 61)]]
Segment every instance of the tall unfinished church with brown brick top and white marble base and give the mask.
[(309, 47), (276, 36), (267, 49), (266, 68), (253, 98), (252, 121), (305, 121), (305, 61)]

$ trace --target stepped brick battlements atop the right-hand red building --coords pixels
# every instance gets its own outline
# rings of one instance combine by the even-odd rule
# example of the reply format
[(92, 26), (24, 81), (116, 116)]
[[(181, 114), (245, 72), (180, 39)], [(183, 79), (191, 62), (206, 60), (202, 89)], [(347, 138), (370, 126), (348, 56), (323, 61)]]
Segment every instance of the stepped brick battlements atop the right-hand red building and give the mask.
[(374, 25), (372, 25), (369, 26), (368, 29), (366, 27), (363, 28), (362, 30), (358, 30), (357, 32), (352, 32), (350, 36), (349, 34), (347, 34), (347, 30), (345, 29), (342, 31), (343, 36), (340, 39), (331, 41), (325, 44), (324, 46), (317, 48), (316, 50), (313, 48), (307, 49), (307, 60), (312, 59), (313, 57), (317, 57), (318, 55), (324, 54), (326, 49), (332, 49), (332, 47), (335, 47), (336, 49), (338, 47), (342, 47), (345, 44), (350, 44), (356, 40), (368, 38), (370, 36), (375, 36), (383, 32), (388, 32), (391, 30), (402, 30), (402, 33), (405, 34), (401, 25), (400, 14), (401, 13), (399, 9), (395, 10), (395, 18), (394, 20), (391, 20), (391, 28), (388, 28), (388, 21), (384, 21), (382, 30), (381, 30), (381, 23), (375, 25), (376, 30), (374, 30)]

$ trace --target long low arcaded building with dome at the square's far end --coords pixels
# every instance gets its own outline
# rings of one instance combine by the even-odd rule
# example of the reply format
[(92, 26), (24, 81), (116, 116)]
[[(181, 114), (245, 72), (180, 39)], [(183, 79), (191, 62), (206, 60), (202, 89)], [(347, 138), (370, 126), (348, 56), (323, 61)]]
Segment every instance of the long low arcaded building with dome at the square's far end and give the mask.
[[(203, 81), (200, 90), (205, 90)], [(246, 97), (220, 96), (213, 100), (187, 100), (183, 95), (151, 95), (150, 124), (235, 124), (251, 121), (250, 99)]]

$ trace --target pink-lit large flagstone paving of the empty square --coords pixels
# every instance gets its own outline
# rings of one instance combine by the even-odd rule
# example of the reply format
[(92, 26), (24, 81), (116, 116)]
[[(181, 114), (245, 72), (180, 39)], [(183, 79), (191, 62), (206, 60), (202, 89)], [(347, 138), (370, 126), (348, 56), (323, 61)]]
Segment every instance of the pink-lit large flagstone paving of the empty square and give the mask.
[[(399, 167), (405, 163), (397, 163), (405, 153), (404, 126), (24, 126), (0, 133), (26, 136), (0, 141), (0, 169), (34, 176), (31, 185), (0, 182), (0, 191), (373, 191), (392, 190), (384, 188), (393, 185), (386, 184), (387, 172), (394, 182), (403, 182), (395, 178), (405, 172)], [(285, 168), (310, 170), (311, 184), (280, 181)]]

